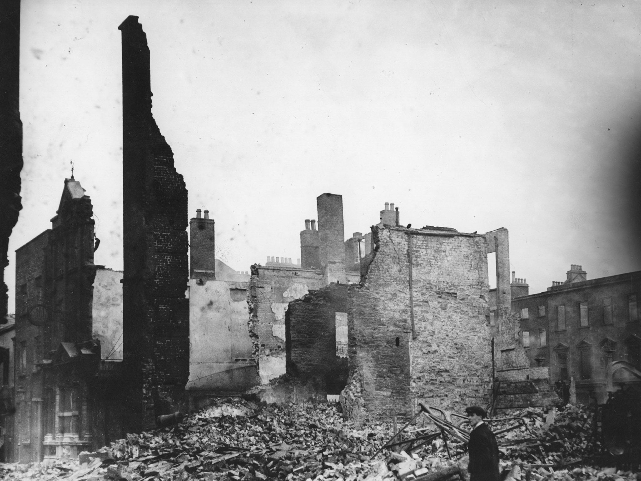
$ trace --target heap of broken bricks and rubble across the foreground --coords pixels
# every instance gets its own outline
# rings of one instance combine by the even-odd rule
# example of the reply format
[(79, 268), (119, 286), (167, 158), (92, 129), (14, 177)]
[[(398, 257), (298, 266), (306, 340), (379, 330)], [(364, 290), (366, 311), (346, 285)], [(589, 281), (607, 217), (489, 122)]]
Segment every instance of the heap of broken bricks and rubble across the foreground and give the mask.
[[(581, 457), (596, 446), (590, 410), (567, 407), (545, 414), (540, 409), (527, 409), (510, 416), (522, 422), (498, 436), (506, 481), (641, 479), (614, 468), (577, 467), (583, 462)], [(499, 432), (510, 425), (514, 425), (513, 420), (494, 422), (492, 429)], [(406, 435), (404, 441), (434, 427), (423, 425)], [(86, 453), (76, 461), (0, 465), (0, 478), (439, 481), (453, 476), (457, 479), (456, 475), (466, 477), (467, 456), (462, 442), (448, 436), (438, 437), (415, 452), (406, 444), (394, 451), (381, 450), (392, 435), (390, 423), (356, 430), (351, 421), (344, 421), (337, 405), (265, 405), (229, 398), (186, 416), (178, 425), (129, 434), (101, 452)]]

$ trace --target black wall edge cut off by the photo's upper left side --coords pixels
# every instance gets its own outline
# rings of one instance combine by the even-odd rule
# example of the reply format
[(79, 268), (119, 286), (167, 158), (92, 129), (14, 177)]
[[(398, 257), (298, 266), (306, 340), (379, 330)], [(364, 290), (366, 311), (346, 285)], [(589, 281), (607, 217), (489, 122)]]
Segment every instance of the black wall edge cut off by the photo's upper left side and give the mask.
[(22, 121), (20, 89), (20, 0), (0, 3), (0, 325), (7, 319), (4, 268), (9, 237), (22, 208)]

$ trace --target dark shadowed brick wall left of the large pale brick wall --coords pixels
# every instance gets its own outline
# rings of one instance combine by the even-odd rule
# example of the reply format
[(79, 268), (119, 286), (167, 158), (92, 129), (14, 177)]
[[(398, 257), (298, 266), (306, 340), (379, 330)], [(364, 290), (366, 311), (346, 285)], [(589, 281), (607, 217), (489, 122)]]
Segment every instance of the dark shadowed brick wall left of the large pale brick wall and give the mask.
[(312, 381), (321, 394), (340, 394), (347, 382), (347, 358), (337, 352), (337, 312), (347, 313), (347, 285), (332, 283), (290, 302), (285, 313), (287, 374)]

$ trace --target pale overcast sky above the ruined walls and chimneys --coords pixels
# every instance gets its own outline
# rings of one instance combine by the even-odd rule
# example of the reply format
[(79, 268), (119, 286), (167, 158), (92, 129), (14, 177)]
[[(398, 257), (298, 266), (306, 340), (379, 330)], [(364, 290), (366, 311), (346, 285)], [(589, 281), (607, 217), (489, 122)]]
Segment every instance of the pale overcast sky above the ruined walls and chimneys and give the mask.
[(249, 271), (300, 258), (316, 197), (345, 238), (401, 224), (510, 231), (529, 292), (641, 269), (641, 3), (22, 0), (22, 211), (51, 227), (65, 177), (92, 199), (96, 264), (122, 269), (121, 32), (151, 51), (153, 115), (189, 217)]

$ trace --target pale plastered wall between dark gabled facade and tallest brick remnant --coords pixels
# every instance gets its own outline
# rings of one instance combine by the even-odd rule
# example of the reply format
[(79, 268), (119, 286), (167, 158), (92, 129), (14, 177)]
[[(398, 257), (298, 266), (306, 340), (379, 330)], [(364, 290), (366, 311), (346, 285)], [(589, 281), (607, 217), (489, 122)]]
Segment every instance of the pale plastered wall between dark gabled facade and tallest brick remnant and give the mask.
[(122, 360), (122, 271), (97, 269), (92, 331), (100, 341), (100, 359)]

